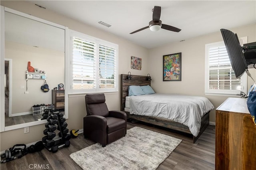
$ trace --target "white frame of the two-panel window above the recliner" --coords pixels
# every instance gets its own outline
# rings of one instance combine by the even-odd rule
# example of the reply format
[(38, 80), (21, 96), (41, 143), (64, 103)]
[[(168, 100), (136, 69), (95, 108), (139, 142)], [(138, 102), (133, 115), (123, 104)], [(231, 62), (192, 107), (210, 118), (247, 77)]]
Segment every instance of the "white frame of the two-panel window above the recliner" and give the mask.
[[(77, 37), (86, 41), (94, 42), (96, 43), (96, 51), (95, 51), (95, 84), (96, 87), (94, 89), (73, 89), (73, 68), (72, 68), (72, 53), (73, 53), (73, 37)], [(115, 57), (115, 83), (114, 83), (114, 88), (100, 88), (99, 87), (99, 46), (104, 45), (107, 47), (111, 47), (116, 49), (116, 57)], [(70, 55), (69, 55), (69, 64), (68, 64), (68, 80), (69, 80), (69, 85), (68, 85), (68, 90), (69, 94), (84, 94), (84, 93), (110, 93), (110, 92), (118, 92), (118, 44), (111, 43), (105, 40), (101, 40), (99, 38), (95, 38), (86, 34), (83, 34), (81, 32), (77, 32), (74, 30), (70, 30), (70, 42), (69, 42), (69, 47), (70, 47)]]

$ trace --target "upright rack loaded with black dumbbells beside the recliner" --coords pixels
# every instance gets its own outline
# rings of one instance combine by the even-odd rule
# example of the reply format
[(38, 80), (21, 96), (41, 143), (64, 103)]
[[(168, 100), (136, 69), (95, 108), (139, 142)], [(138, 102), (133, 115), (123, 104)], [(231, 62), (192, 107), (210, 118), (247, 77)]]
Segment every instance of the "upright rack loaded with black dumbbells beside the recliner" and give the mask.
[[(68, 124), (63, 117), (64, 115), (54, 109), (45, 109), (42, 116), (44, 119), (48, 116), (46, 118), (48, 123), (45, 124), (46, 129), (44, 130), (46, 136), (42, 138), (45, 148), (50, 152), (57, 152), (60, 148), (68, 147), (70, 145), (69, 140), (71, 135), (67, 134), (68, 128), (66, 127)], [(56, 127), (56, 125), (58, 127)], [(56, 129), (60, 131), (58, 135), (61, 138), (55, 141), (53, 138), (56, 136), (56, 133), (54, 132)]]

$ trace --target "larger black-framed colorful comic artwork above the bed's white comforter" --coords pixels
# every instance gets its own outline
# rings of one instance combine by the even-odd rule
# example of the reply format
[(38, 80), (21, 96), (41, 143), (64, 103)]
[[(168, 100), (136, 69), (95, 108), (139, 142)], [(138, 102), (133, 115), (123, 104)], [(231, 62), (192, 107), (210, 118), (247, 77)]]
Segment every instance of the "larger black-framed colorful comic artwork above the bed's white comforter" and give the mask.
[(181, 81), (181, 53), (163, 55), (163, 81)]

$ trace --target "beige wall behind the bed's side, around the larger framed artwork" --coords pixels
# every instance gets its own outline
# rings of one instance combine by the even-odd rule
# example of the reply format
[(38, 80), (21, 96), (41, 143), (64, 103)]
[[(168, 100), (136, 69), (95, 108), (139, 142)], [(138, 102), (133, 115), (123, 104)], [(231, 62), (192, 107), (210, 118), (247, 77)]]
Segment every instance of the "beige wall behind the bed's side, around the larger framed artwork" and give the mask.
[[(230, 29), (238, 37), (248, 36), (248, 43), (256, 41), (256, 25)], [(205, 95), (205, 44), (223, 41), (221, 33), (208, 34), (183, 42), (175, 42), (161, 47), (150, 49), (149, 68), (152, 77), (152, 88), (157, 93), (180, 93), (207, 97), (215, 108), (228, 97)], [(182, 53), (182, 81), (162, 81), (163, 55)], [(249, 69), (252, 77), (256, 77), (255, 69)], [(248, 78), (248, 87), (253, 81)], [(210, 113), (210, 121), (215, 122), (215, 110)]]

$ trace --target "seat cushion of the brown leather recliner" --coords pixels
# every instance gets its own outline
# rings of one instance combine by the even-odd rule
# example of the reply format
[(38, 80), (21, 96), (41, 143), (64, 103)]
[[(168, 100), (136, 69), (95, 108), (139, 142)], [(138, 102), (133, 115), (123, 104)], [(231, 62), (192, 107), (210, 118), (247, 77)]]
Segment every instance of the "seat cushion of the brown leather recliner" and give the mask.
[(108, 134), (126, 127), (126, 121), (115, 117), (106, 117)]

